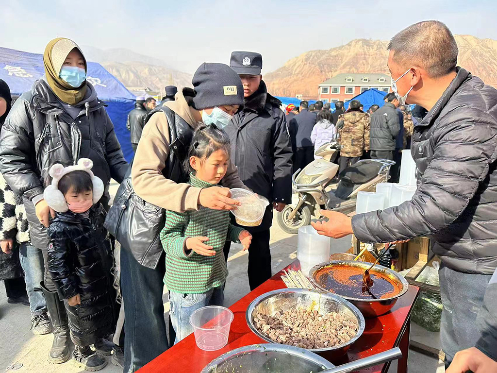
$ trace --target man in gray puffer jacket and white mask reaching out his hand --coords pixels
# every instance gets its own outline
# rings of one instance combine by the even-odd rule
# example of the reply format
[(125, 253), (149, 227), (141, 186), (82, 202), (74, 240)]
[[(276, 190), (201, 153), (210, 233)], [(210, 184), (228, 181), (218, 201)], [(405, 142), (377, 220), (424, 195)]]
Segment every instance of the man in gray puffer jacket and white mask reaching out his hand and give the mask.
[[(446, 366), (457, 351), (474, 346), (496, 360), (497, 349), (485, 348), (491, 333), (479, 330), (476, 320), (497, 267), (497, 91), (456, 67), (457, 44), (441, 22), (406, 28), (389, 50), (399, 100), (429, 110), (412, 137), (417, 190), (397, 207), (352, 219), (325, 211), (330, 221), (313, 226), (334, 238), (354, 233), (363, 242), (430, 235), (442, 261), (440, 338)], [(493, 302), (487, 307), (493, 315), (483, 317), (496, 318), (497, 299)], [(485, 324), (495, 321), (480, 323)]]

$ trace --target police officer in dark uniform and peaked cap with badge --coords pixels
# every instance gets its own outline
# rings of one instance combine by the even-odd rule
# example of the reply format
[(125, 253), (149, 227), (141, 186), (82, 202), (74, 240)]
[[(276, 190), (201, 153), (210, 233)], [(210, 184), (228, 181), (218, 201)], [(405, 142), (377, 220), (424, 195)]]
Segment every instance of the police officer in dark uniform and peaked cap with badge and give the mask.
[[(282, 211), (292, 199), (292, 145), (281, 101), (267, 93), (260, 75), (262, 56), (233, 52), (230, 66), (244, 86), (245, 106), (225, 128), (231, 139), (232, 159), (247, 187), (272, 202), (258, 227), (248, 228), (252, 244), (248, 252), (250, 290), (271, 277), (269, 228), (273, 212)], [(230, 244), (225, 246), (228, 258)]]

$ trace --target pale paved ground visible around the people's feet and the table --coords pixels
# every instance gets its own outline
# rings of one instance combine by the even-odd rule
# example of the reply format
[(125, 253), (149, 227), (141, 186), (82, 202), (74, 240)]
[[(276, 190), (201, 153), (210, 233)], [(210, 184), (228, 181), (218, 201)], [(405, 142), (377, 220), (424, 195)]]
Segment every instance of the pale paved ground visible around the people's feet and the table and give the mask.
[[(334, 240), (333, 247), (350, 247), (350, 237)], [(274, 222), (271, 228), (271, 255), (273, 274), (286, 267), (297, 256), (297, 236), (283, 232)], [(226, 305), (231, 305), (249, 292), (247, 278), (247, 253), (241, 251), (240, 245), (233, 245), (228, 262), (230, 275), (227, 280), (225, 295)], [(3, 287), (3, 286), (0, 286)], [(169, 309), (167, 295), (164, 296), (166, 311)], [(166, 312), (167, 315), (167, 312)], [(52, 343), (52, 335), (34, 336), (29, 330), (29, 307), (7, 303), (4, 290), (0, 290), (0, 372), (81, 372), (71, 362), (51, 365), (46, 356)], [(438, 333), (430, 333), (414, 324), (412, 338), (438, 347)], [(444, 372), (443, 364), (424, 355), (410, 352), (409, 371), (415, 373)], [(395, 364), (390, 372), (395, 372)], [(109, 365), (103, 373), (118, 373), (119, 369)]]

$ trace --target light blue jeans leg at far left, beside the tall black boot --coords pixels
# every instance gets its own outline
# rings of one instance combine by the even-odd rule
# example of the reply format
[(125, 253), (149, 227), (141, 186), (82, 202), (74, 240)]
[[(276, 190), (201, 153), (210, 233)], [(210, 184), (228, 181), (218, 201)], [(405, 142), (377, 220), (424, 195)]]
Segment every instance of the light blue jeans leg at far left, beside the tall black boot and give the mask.
[(34, 246), (22, 244), (19, 249), (19, 259), (24, 271), (31, 315), (36, 316), (46, 313), (47, 303), (45, 302), (43, 292), (34, 290), (35, 287), (41, 289), (40, 282), (43, 281), (44, 267), (42, 252)]

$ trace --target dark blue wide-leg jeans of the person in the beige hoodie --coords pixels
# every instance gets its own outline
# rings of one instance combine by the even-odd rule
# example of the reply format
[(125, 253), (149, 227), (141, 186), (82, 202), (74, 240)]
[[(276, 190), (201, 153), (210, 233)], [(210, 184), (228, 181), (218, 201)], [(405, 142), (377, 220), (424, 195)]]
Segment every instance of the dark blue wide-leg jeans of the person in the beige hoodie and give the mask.
[(155, 270), (142, 266), (121, 247), (124, 304), (124, 373), (136, 372), (167, 350), (164, 321), (164, 255)]

